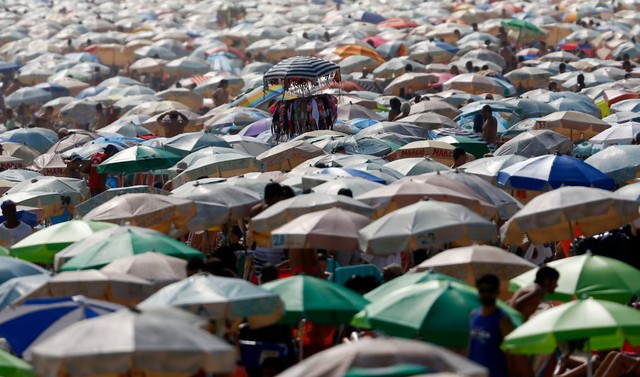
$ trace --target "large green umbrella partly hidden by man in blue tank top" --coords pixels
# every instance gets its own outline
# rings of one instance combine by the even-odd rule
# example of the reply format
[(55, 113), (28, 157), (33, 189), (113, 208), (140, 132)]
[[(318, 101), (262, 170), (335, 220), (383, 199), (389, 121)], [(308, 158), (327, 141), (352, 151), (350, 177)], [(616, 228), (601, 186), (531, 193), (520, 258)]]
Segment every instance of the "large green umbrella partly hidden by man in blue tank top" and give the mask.
[[(469, 340), (469, 315), (480, 306), (474, 288), (451, 281), (431, 281), (402, 288), (372, 302), (352, 323), (368, 324), (391, 336), (419, 336), (430, 343), (461, 349)], [(501, 301), (498, 307), (514, 325), (522, 323), (520, 313)]]

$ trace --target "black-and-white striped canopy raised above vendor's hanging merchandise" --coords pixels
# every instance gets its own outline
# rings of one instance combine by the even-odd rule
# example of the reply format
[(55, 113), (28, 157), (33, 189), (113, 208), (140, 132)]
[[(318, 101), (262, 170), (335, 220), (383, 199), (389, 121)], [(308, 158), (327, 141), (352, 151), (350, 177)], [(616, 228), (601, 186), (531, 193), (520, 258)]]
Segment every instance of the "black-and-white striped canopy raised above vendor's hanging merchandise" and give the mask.
[[(285, 59), (269, 69), (263, 77), (265, 90), (281, 84), (284, 90), (310, 90), (329, 81), (341, 81), (340, 67), (330, 61), (310, 56)], [(320, 81), (326, 81), (321, 83)]]

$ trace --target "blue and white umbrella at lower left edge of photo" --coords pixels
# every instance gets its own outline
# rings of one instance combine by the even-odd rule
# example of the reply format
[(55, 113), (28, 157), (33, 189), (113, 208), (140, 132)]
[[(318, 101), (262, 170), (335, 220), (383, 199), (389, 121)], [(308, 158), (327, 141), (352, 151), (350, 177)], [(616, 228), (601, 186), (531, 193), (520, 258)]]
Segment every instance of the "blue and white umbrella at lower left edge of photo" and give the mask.
[(15, 354), (24, 355), (31, 345), (76, 322), (123, 308), (84, 296), (28, 300), (0, 314), (0, 336), (7, 339)]

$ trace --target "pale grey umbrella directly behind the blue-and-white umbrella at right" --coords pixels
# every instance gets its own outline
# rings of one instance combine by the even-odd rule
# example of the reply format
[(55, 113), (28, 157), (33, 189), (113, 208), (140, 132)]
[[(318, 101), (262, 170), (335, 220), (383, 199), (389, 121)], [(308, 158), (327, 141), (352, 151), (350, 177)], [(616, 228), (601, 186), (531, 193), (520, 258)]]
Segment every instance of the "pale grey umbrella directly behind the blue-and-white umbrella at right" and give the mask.
[(571, 140), (555, 131), (529, 130), (508, 140), (494, 152), (495, 156), (518, 155), (537, 157), (550, 153), (569, 153), (573, 148)]

